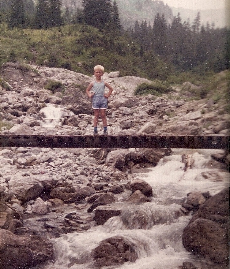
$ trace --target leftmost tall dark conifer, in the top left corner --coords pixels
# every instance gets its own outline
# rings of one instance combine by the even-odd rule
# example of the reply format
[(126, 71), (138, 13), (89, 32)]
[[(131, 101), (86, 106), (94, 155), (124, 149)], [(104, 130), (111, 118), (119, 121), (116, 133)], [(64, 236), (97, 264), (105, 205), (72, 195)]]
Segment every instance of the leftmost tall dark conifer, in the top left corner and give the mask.
[(10, 28), (25, 27), (25, 9), (22, 0), (14, 0), (10, 8), (9, 22)]

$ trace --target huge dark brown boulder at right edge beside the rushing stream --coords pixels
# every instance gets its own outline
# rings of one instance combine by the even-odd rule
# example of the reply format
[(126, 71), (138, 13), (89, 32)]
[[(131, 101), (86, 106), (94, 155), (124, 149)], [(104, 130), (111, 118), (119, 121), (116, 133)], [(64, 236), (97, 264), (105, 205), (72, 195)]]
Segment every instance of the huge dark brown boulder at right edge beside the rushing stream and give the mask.
[(210, 197), (183, 230), (187, 251), (209, 256), (216, 263), (229, 259), (229, 189)]

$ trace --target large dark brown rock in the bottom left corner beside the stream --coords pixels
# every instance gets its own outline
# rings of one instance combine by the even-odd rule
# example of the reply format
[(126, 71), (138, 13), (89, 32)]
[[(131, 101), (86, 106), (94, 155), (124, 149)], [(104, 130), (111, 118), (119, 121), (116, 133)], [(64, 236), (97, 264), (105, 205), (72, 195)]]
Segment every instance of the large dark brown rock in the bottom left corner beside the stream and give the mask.
[(0, 268), (30, 268), (52, 259), (51, 241), (40, 236), (17, 236), (0, 229)]

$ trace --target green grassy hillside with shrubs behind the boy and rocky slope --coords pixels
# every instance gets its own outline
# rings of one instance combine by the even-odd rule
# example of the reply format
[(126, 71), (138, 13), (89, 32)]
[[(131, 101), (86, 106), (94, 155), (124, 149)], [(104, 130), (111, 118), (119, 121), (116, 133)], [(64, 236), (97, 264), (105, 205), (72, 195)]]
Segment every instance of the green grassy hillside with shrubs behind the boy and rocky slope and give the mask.
[[(39, 65), (63, 67), (92, 74), (96, 64), (107, 72), (166, 79), (173, 67), (153, 52), (144, 54), (127, 36), (113, 36), (87, 25), (66, 25), (47, 30), (9, 30), (0, 25), (0, 64), (7, 61), (32, 61)], [(81, 65), (78, 63), (82, 63)]]

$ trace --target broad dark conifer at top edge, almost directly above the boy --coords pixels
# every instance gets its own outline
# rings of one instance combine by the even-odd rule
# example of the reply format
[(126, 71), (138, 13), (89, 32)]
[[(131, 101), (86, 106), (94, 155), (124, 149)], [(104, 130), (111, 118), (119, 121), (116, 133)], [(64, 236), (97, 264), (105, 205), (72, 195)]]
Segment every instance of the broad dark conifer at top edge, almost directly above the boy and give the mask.
[(82, 0), (82, 5), (86, 24), (103, 28), (111, 20), (111, 0)]

